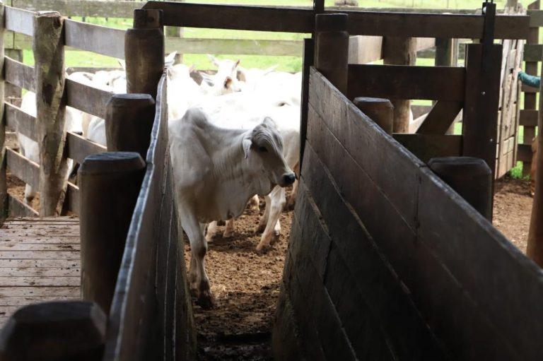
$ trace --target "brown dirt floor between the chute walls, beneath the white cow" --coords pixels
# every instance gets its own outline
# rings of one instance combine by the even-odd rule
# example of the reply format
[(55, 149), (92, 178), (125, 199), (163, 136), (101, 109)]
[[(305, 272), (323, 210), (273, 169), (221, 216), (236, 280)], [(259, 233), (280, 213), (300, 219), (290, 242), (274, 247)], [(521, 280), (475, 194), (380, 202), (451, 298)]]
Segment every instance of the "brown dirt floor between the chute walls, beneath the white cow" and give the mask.
[[(198, 333), (199, 360), (271, 360), (271, 326), (293, 211), (281, 214), (281, 237), (267, 253), (255, 251), (260, 213), (246, 210), (235, 222), (233, 237), (223, 238), (219, 227), (209, 244), (206, 271), (217, 300), (216, 309), (205, 310), (192, 302)], [(190, 247), (185, 245), (190, 264)]]

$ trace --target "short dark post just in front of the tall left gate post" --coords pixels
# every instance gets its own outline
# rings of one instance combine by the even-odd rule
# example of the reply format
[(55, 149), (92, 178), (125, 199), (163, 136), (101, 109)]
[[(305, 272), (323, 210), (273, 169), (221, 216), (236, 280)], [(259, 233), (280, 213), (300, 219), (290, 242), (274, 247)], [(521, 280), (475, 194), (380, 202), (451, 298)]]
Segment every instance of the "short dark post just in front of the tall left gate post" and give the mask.
[(105, 135), (110, 152), (137, 152), (147, 158), (155, 119), (155, 101), (148, 94), (116, 94), (107, 102)]

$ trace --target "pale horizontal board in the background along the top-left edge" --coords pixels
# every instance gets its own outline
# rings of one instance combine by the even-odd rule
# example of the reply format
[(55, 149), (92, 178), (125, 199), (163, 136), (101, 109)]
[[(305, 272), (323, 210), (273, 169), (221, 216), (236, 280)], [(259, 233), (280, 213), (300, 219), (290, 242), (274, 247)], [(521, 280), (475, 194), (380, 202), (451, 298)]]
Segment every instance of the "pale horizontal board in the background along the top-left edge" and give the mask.
[(12, 5), (17, 8), (96, 18), (132, 18), (134, 10), (144, 4), (141, 1), (110, 1), (104, 4), (103, 0), (12, 0)]

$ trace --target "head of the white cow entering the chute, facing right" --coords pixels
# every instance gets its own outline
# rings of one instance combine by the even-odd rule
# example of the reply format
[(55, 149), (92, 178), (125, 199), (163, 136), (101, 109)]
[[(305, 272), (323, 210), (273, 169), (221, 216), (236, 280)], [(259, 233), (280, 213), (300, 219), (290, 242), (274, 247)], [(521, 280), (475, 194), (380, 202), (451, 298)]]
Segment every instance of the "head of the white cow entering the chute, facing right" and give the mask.
[(257, 177), (262, 177), (261, 184), (269, 182), (269, 191), (275, 184), (286, 187), (296, 180), (296, 174), (288, 167), (283, 155), (283, 138), (271, 118), (265, 118), (247, 132), (243, 139), (243, 151), (250, 169)]

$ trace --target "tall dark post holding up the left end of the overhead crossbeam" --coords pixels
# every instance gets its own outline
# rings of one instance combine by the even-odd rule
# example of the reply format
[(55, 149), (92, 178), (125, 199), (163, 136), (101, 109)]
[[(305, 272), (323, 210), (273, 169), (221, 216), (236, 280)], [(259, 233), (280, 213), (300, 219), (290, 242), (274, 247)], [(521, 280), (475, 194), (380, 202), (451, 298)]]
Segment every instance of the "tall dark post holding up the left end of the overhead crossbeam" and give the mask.
[(151, 94), (164, 71), (164, 32), (160, 10), (134, 10), (134, 28), (127, 30), (124, 42), (127, 64), (127, 92)]

